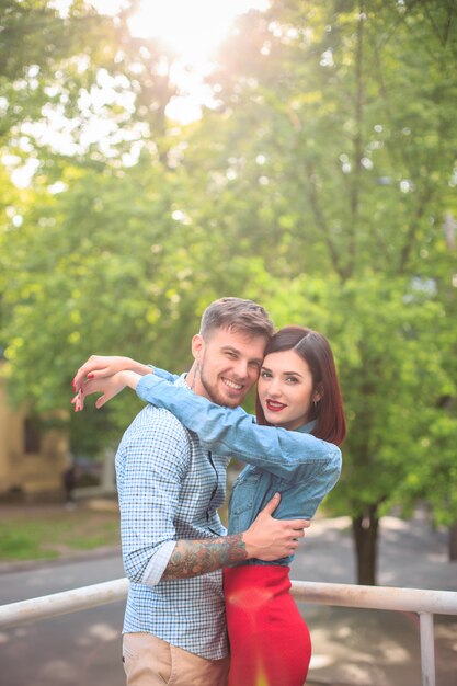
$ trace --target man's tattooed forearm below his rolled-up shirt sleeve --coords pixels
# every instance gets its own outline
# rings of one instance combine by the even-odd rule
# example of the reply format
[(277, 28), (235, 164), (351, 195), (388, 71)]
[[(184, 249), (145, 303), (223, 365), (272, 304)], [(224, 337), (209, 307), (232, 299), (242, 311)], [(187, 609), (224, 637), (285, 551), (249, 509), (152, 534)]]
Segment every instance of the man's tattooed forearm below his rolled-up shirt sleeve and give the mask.
[(179, 540), (162, 579), (190, 579), (248, 559), (242, 534), (213, 540)]

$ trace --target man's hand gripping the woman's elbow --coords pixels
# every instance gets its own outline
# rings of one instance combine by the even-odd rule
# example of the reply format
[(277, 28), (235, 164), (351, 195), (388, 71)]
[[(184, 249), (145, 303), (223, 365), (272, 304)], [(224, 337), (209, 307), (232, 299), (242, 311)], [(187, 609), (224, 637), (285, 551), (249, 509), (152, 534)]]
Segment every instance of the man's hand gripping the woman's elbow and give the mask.
[(242, 535), (248, 558), (264, 562), (278, 560), (293, 554), (298, 548), (298, 539), (304, 538), (309, 519), (274, 519), (273, 512), (281, 501), (276, 493)]

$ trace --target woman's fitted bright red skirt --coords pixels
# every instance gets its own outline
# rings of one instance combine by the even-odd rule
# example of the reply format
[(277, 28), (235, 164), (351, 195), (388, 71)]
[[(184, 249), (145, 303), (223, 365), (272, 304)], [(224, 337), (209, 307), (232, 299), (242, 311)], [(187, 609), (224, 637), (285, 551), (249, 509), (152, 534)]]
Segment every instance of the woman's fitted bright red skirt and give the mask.
[(289, 593), (289, 568), (224, 570), (229, 686), (302, 686), (311, 659), (305, 620)]

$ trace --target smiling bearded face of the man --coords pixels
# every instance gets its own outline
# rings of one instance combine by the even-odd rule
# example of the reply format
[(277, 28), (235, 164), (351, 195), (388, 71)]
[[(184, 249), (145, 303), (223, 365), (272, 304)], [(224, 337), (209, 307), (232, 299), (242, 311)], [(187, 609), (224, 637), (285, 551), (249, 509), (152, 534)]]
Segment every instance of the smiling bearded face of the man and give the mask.
[(194, 390), (220, 405), (241, 404), (256, 382), (266, 346), (264, 336), (243, 331), (214, 329), (206, 341), (199, 334), (192, 341), (192, 351), (198, 369)]

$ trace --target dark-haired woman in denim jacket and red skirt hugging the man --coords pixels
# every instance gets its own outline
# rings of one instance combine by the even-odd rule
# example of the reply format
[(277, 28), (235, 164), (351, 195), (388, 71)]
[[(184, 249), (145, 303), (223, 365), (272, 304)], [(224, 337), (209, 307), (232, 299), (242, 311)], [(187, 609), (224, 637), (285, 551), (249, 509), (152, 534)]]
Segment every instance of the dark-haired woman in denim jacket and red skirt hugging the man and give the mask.
[[(87, 381), (83, 391), (104, 391), (96, 402), (101, 407), (128, 385), (144, 400), (175, 414), (208, 449), (219, 455), (236, 453), (240, 459), (248, 459), (249, 454), (251, 464), (241, 471), (230, 496), (229, 534), (245, 530), (275, 492), (282, 494), (275, 517), (309, 518), (315, 514), (338, 480), (340, 454), (333, 450), (329, 459), (318, 459), (308, 438), (305, 454), (296, 455), (297, 432), (335, 445), (345, 437), (333, 355), (323, 335), (286, 327), (272, 338), (258, 382), (256, 424), (241, 409), (221, 408), (155, 376), (121, 371), (110, 379)], [(81, 395), (75, 404), (76, 410), (82, 409)], [(262, 455), (265, 431), (277, 432), (284, 460), (269, 460)], [(229, 686), (302, 686), (305, 682), (311, 645), (308, 628), (289, 594), (292, 559), (269, 563), (249, 560), (225, 570)]]

